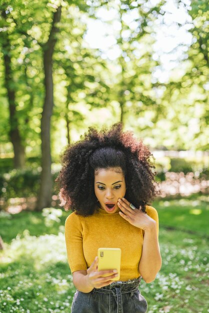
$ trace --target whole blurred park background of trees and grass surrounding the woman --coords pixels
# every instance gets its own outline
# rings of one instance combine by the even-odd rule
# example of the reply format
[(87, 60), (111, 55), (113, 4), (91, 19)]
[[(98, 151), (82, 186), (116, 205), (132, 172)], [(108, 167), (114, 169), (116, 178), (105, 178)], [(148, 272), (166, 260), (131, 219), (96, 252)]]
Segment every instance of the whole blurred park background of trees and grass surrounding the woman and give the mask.
[[(162, 192), (153, 205), (167, 263), (158, 287), (143, 285), (149, 313), (206, 312), (208, 19), (206, 0), (0, 0), (0, 311), (68, 311), (73, 285), (60, 247), (68, 213), (58, 209), (54, 184), (59, 155), (88, 126), (121, 121), (150, 147)], [(13, 280), (11, 293), (15, 261), (27, 280), (27, 243), (39, 244), (33, 256), (41, 260), (47, 233), (48, 246), (60, 250), (47, 251), (50, 277), (42, 260), (28, 276), (29, 291)], [(172, 252), (166, 238), (176, 236)], [(196, 277), (190, 285), (189, 274)], [(197, 298), (195, 283), (202, 284)], [(49, 293), (39, 298), (46, 286), (62, 303)]]

